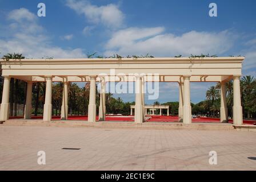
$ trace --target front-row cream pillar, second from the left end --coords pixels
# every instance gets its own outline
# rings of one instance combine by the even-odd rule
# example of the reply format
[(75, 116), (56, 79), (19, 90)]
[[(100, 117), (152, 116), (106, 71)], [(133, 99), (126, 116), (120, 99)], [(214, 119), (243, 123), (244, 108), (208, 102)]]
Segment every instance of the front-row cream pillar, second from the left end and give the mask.
[(51, 76), (46, 77), (46, 92), (45, 92), (45, 105), (43, 105), (43, 121), (51, 121)]

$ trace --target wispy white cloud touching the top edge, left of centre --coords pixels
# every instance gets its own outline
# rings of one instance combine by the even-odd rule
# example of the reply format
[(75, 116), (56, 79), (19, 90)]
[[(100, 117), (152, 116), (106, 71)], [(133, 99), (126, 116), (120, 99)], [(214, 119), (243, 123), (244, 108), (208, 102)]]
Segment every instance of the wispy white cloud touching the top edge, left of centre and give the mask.
[(109, 4), (106, 6), (91, 5), (88, 1), (67, 0), (66, 3), (78, 14), (83, 14), (93, 24), (103, 24), (110, 28), (121, 27), (124, 15), (117, 5)]

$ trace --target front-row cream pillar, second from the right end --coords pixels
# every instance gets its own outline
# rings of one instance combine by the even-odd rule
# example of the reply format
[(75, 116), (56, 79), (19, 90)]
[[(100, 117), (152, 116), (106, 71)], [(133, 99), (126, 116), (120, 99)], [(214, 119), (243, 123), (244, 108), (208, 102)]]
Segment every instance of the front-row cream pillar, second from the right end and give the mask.
[(191, 104), (190, 104), (190, 76), (184, 78), (184, 102), (183, 102), (183, 123), (190, 124), (191, 119)]

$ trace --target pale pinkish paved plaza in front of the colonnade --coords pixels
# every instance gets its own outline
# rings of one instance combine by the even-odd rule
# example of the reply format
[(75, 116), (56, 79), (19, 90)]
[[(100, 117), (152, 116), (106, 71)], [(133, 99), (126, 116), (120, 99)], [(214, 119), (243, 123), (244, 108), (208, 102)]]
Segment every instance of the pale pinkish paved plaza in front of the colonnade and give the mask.
[[(1, 170), (256, 170), (249, 131), (0, 125), (0, 137)], [(45, 165), (38, 151), (46, 152)], [(209, 164), (210, 151), (217, 165)]]

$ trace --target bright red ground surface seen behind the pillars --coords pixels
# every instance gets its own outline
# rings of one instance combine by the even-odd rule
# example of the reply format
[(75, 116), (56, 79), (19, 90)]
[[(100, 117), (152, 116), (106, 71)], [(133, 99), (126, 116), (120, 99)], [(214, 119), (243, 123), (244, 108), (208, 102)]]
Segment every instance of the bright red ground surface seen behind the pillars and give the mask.
[[(165, 116), (165, 115), (154, 115), (150, 116), (151, 118), (147, 120), (147, 122), (178, 122), (178, 116)], [(22, 118), (22, 116), (19, 117), (9, 117), (9, 119), (19, 119)], [(42, 116), (33, 116), (32, 119), (42, 119)], [(60, 120), (61, 117), (59, 116), (53, 116), (53, 120)], [(86, 121), (88, 119), (87, 116), (81, 116), (81, 115), (71, 115), (69, 116), (69, 120), (84, 120)], [(96, 117), (98, 120), (98, 117)], [(134, 121), (134, 116), (121, 116), (121, 115), (107, 115), (106, 121)], [(192, 122), (205, 122), (205, 123), (218, 123), (219, 118), (193, 118)], [(229, 123), (232, 123), (233, 119), (229, 119)], [(251, 120), (243, 120), (243, 123), (247, 125), (253, 125), (256, 123), (256, 121)]]

